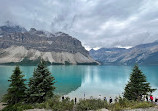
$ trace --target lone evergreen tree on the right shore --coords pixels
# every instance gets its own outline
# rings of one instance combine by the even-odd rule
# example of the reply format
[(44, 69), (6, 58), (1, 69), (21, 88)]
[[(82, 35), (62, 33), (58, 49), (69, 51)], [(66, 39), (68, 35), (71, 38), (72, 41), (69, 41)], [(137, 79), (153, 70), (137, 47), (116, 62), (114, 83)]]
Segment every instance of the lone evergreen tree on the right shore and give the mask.
[(151, 89), (145, 75), (139, 69), (138, 65), (135, 65), (130, 75), (130, 80), (125, 87), (124, 97), (128, 100), (141, 100), (142, 95), (149, 95), (155, 90)]

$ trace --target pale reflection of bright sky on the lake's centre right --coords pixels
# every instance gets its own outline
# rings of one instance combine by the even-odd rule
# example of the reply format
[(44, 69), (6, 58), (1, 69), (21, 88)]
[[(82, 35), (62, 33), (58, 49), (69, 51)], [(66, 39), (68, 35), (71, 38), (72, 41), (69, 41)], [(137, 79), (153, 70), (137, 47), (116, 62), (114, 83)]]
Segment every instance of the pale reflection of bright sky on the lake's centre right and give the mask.
[(86, 98), (121, 95), (130, 69), (131, 67), (120, 68), (120, 66), (89, 66), (86, 68), (81, 86), (70, 92), (68, 96), (83, 98), (84, 93)]

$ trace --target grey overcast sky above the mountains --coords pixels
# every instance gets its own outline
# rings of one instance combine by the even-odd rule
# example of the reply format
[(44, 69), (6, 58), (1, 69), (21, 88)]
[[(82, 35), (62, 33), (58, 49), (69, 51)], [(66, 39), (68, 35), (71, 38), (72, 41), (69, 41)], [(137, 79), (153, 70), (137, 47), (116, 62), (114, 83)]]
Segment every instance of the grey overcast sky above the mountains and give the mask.
[(158, 39), (158, 0), (0, 0), (0, 25), (63, 31), (89, 48)]

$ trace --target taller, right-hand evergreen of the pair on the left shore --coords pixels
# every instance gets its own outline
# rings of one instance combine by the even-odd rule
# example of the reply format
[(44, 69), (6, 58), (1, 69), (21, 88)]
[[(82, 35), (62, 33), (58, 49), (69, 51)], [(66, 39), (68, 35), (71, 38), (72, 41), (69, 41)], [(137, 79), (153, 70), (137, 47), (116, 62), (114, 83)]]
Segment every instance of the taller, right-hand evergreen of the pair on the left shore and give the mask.
[(46, 67), (45, 62), (42, 60), (37, 69), (33, 72), (33, 77), (29, 81), (29, 98), (28, 102), (30, 103), (41, 103), (47, 98), (53, 96), (54, 87), (54, 77), (49, 72)]

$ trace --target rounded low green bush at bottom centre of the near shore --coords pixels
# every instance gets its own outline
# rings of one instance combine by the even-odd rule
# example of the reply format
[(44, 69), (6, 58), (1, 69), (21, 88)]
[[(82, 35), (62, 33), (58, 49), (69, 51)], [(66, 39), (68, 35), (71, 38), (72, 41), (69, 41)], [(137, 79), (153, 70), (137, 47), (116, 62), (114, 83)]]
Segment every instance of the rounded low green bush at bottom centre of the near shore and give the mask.
[(86, 110), (97, 110), (102, 108), (107, 108), (108, 104), (105, 101), (100, 99), (87, 99), (81, 100), (76, 107), (77, 111), (86, 111)]

